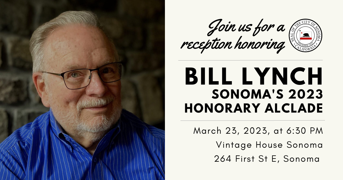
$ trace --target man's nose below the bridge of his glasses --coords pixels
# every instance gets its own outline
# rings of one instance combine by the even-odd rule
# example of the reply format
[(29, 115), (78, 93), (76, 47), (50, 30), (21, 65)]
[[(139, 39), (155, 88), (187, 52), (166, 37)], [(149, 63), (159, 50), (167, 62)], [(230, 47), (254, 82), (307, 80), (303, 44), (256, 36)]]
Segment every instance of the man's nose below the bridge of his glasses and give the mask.
[(104, 82), (100, 79), (97, 71), (92, 72), (91, 82), (86, 87), (86, 94), (88, 96), (102, 97), (106, 93), (106, 86)]

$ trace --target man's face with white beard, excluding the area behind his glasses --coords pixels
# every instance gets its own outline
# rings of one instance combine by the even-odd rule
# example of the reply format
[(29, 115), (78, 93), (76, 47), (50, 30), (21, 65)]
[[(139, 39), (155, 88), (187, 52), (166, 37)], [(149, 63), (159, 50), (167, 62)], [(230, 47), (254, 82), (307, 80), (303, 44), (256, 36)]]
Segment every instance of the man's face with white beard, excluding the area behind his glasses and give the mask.
[[(97, 28), (69, 25), (55, 29), (44, 44), (46, 71), (62, 73), (95, 69), (115, 62), (114, 49)], [(61, 76), (47, 74), (46, 92), (56, 120), (64, 129), (78, 132), (108, 130), (120, 117), (120, 81), (104, 83), (92, 71), (90, 84), (68, 89)], [(80, 133), (79, 132), (79, 133)]]

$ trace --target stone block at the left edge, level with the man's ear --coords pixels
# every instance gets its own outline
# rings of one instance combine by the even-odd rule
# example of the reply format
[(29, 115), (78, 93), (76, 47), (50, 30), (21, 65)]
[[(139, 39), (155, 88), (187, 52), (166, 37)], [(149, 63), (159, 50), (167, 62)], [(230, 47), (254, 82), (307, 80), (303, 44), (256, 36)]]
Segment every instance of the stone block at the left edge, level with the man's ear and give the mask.
[(0, 77), (0, 102), (16, 104), (27, 98), (27, 83), (21, 79)]

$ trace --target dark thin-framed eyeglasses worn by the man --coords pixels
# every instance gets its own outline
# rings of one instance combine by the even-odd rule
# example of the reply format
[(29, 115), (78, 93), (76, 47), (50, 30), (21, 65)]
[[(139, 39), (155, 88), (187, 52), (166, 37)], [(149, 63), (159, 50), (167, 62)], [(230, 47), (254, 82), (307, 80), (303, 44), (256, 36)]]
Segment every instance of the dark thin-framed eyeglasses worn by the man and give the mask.
[(92, 79), (92, 71), (98, 71), (100, 79), (104, 83), (112, 83), (121, 79), (121, 62), (105, 64), (96, 69), (75, 69), (61, 74), (43, 72), (62, 76), (68, 89), (81, 89), (89, 85)]

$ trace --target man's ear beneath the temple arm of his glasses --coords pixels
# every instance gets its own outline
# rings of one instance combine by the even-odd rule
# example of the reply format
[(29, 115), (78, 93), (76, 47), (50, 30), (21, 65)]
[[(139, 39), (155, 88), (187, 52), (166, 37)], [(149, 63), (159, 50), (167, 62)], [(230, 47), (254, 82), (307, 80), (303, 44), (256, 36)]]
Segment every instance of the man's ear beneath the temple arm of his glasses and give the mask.
[(43, 81), (42, 73), (41, 72), (33, 73), (32, 80), (33, 80), (33, 83), (35, 84), (39, 97), (42, 99), (43, 105), (49, 108), (50, 107), (49, 96), (47, 92), (45, 91), (46, 84)]

